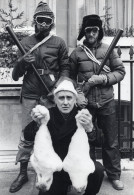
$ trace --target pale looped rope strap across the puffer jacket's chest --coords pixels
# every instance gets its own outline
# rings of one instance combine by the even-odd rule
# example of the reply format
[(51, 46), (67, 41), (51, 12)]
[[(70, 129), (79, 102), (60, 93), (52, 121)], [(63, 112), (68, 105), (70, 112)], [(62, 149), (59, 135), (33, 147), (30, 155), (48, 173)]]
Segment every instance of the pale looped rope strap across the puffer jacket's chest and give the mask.
[[(94, 54), (92, 53), (92, 51), (91, 51), (88, 47), (86, 47), (85, 45), (80, 45), (79, 47), (81, 47), (81, 48), (85, 51), (86, 55), (87, 55), (93, 62), (97, 63), (98, 65), (101, 64), (101, 62), (100, 62), (99, 60), (96, 59), (96, 57), (94, 56)], [(107, 73), (108, 73), (108, 72), (111, 72), (110, 68), (109, 68), (107, 65), (104, 65), (103, 70), (104, 70), (105, 72), (107, 72)]]

